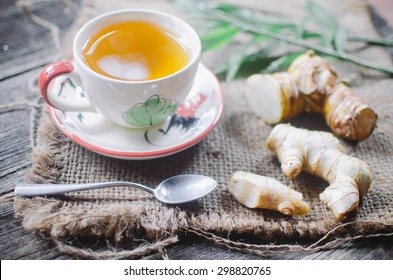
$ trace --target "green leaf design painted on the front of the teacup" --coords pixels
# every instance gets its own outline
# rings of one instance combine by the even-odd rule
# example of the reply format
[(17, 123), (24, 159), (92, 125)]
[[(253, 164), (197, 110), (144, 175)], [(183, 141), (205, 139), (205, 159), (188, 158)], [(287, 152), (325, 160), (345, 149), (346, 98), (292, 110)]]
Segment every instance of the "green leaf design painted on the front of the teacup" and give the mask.
[(122, 117), (130, 125), (153, 126), (173, 115), (177, 107), (178, 103), (153, 95), (145, 103), (135, 104)]

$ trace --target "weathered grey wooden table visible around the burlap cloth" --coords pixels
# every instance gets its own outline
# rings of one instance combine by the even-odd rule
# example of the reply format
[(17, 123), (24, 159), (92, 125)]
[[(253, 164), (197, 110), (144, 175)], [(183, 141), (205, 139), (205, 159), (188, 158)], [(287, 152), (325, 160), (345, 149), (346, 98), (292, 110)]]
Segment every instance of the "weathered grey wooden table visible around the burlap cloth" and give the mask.
[[(0, 1), (0, 194), (13, 191), (31, 168), (32, 147), (42, 101), (36, 78), (42, 67), (58, 59), (58, 44), (76, 17), (80, 0), (36, 1), (25, 9), (16, 0)], [(384, 1), (373, 1), (373, 3)], [(33, 14), (32, 14), (33, 13)], [(393, 13), (393, 11), (392, 11)], [(38, 15), (45, 21), (36, 18)], [(56, 25), (49, 24), (54, 22)], [(55, 36), (54, 36), (55, 35)], [(55, 38), (55, 39), (54, 39)], [(189, 234), (167, 248), (170, 259), (393, 259), (393, 240), (371, 238), (343, 248), (317, 252), (285, 253), (270, 257), (230, 251)], [(148, 259), (159, 258), (158, 255)], [(1, 259), (70, 259), (50, 240), (32, 234), (14, 217), (13, 204), (0, 204)]]

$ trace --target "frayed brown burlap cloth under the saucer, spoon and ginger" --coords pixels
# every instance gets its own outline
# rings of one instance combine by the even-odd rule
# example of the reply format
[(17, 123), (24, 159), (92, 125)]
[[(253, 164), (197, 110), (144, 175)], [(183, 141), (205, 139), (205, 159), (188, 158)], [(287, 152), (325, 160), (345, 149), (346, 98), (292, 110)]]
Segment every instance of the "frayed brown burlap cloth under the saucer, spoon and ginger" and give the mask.
[[(185, 14), (164, 1), (110, 2), (84, 1), (69, 38), (92, 16), (118, 8), (158, 8), (187, 20)], [(256, 2), (242, 1), (242, 4), (294, 21), (304, 15), (303, 1)], [(336, 0), (323, 4), (328, 5), (348, 30), (378, 36), (370, 22), (366, 1)], [(281, 8), (277, 9), (277, 5)], [(65, 56), (69, 56), (67, 47), (71, 45), (71, 39), (65, 40), (63, 45)], [(205, 64), (213, 66), (227, 57), (225, 50), (220, 55), (206, 54), (203, 57)], [(360, 47), (356, 55), (385, 65), (391, 61), (386, 51), (378, 47)], [(27, 230), (51, 237), (61, 251), (86, 258), (132, 258), (149, 254), (176, 243), (181, 233), (187, 232), (230, 248), (260, 254), (283, 250), (314, 251), (337, 246), (340, 241), (392, 235), (393, 80), (375, 71), (338, 61), (333, 63), (341, 75), (352, 79), (354, 91), (379, 116), (378, 127), (366, 141), (342, 141), (349, 154), (369, 164), (374, 177), (359, 211), (343, 222), (338, 223), (318, 199), (319, 193), (327, 186), (325, 182), (308, 174), (301, 174), (295, 180), (284, 177), (279, 162), (265, 148), (272, 127), (248, 112), (243, 100), (243, 80), (223, 83), (224, 114), (213, 132), (196, 146), (160, 159), (126, 161), (95, 154), (65, 137), (54, 126), (46, 109), (40, 118), (34, 164), (26, 178), (28, 182), (124, 180), (155, 186), (173, 175), (198, 173), (209, 175), (219, 183), (218, 188), (203, 200), (171, 207), (142, 191), (108, 188), (54, 198), (18, 198), (15, 199), (16, 215), (23, 220)], [(298, 127), (328, 130), (319, 116), (302, 115), (290, 121)], [(226, 188), (228, 176), (237, 170), (274, 177), (302, 192), (312, 213), (287, 217), (273, 211), (243, 207)], [(108, 248), (95, 247), (94, 242), (100, 240), (107, 241)]]

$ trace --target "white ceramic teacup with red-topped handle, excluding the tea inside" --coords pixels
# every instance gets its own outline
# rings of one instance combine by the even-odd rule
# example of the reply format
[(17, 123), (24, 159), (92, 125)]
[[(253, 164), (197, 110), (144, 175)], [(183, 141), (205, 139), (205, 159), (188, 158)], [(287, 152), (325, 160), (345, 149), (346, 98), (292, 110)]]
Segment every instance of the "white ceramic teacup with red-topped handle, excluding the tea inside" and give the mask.
[[(151, 80), (121, 80), (93, 71), (85, 62), (82, 49), (99, 30), (119, 22), (143, 21), (160, 26), (182, 43), (188, 63), (165, 77)], [(190, 92), (201, 54), (201, 42), (183, 20), (146, 9), (120, 10), (96, 17), (86, 23), (73, 42), (73, 62), (55, 62), (44, 68), (39, 85), (50, 106), (63, 111), (98, 112), (112, 122), (129, 128), (156, 125), (173, 115)], [(83, 97), (66, 98), (49, 90), (60, 76), (77, 81)]]

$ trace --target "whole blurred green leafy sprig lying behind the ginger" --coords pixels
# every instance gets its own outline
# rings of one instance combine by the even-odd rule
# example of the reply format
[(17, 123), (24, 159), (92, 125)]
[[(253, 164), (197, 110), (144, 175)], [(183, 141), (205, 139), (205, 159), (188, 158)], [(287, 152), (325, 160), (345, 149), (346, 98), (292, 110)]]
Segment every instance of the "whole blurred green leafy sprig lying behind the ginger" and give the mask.
[[(173, 0), (173, 1), (181, 1), (181, 0)], [(393, 74), (392, 67), (386, 67), (383, 65), (378, 65), (373, 63), (372, 61), (358, 58), (352, 54), (344, 52), (346, 41), (361, 41), (369, 44), (380, 44), (386, 46), (392, 46), (393, 40), (389, 39), (380, 39), (380, 38), (368, 38), (363, 36), (350, 36), (347, 35), (345, 31), (340, 30), (340, 26), (337, 23), (335, 17), (327, 11), (323, 6), (316, 4), (314, 2), (308, 2), (305, 5), (306, 8), (306, 20), (304, 22), (312, 23), (313, 27), (318, 27), (317, 30), (310, 29), (307, 30), (305, 26), (300, 26), (287, 22), (286, 19), (280, 19), (274, 16), (266, 16), (265, 14), (243, 8), (236, 5), (219, 5), (212, 6), (209, 3), (205, 3), (205, 1), (196, 1), (189, 0), (190, 2), (195, 3), (195, 11), (199, 12), (199, 15), (203, 16), (204, 19), (208, 19), (211, 22), (220, 22), (225, 21), (227, 24), (222, 24), (225, 26), (223, 32), (231, 33), (232, 31), (236, 34), (261, 34), (262, 40), (267, 40), (267, 37), (280, 41), (284, 44), (288, 44), (289, 46), (297, 46), (302, 49), (312, 49), (316, 53), (325, 56), (331, 56), (335, 59), (340, 59), (344, 61), (349, 61), (356, 65), (361, 65), (363, 67), (367, 67), (370, 69), (376, 69), (379, 71), (383, 71), (389, 74)], [(186, 2), (189, 2), (186, 1)], [(209, 1), (208, 1), (209, 2)], [(206, 21), (204, 21), (206, 22)], [(236, 30), (237, 27), (240, 30)], [(217, 29), (220, 29), (217, 27)], [(270, 29), (270, 30), (269, 30)], [(236, 32), (234, 31), (236, 30)], [(213, 30), (211, 33), (220, 33), (217, 30)], [(235, 37), (235, 35), (226, 35), (226, 36), (207, 36), (205, 38), (206, 46), (205, 49), (214, 49), (217, 46), (222, 46), (225, 44), (229, 44), (231, 40)], [(324, 46), (318, 44), (316, 42), (309, 42), (309, 38), (320, 38), (321, 42), (323, 42)], [(315, 40), (314, 40), (315, 41)], [(258, 46), (256, 46), (258, 47)], [(340, 51), (339, 51), (340, 50)], [(282, 53), (284, 54), (285, 53)], [(266, 71), (270, 71), (273, 68), (279, 68), (280, 65), (287, 64), (287, 61), (290, 61), (290, 57), (283, 56), (254, 56), (256, 54), (251, 54), (243, 57), (240, 68), (237, 71), (236, 76), (244, 75), (245, 73), (253, 74), (256, 72), (260, 72), (261, 69), (267, 69)], [(288, 55), (288, 54), (287, 54)], [(253, 57), (254, 56), (254, 57)], [(252, 59), (254, 58), (254, 59)], [(288, 59), (288, 60), (287, 60)], [(277, 61), (276, 61), (277, 60)], [(274, 63), (273, 63), (274, 62)], [(270, 66), (270, 67), (269, 67)], [(232, 72), (235, 71), (231, 70)], [(229, 69), (228, 64), (222, 65), (218, 68), (219, 75), (226, 73)], [(216, 72), (217, 73), (217, 72)], [(231, 74), (234, 75), (234, 74)]]

